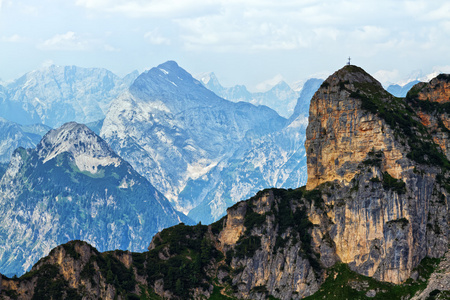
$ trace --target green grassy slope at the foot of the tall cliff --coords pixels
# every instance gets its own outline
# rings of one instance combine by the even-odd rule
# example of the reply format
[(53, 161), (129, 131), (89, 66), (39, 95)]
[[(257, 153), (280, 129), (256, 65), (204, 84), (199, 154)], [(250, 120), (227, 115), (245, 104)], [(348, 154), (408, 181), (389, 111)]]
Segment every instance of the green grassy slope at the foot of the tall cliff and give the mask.
[[(304, 299), (410, 299), (417, 291), (425, 289), (427, 280), (438, 263), (439, 259), (423, 259), (416, 268), (419, 278), (423, 279), (418, 281), (408, 279), (400, 285), (377, 281), (351, 271), (346, 264), (337, 263), (327, 271), (327, 279), (319, 291)], [(376, 295), (366, 296), (366, 293), (371, 290), (376, 291)]]

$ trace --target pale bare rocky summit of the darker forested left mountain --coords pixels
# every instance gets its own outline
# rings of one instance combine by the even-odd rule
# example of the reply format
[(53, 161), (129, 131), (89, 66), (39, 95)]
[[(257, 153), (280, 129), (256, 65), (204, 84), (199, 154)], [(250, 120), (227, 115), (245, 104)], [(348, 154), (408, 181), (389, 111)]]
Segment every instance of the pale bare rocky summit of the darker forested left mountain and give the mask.
[(106, 142), (86, 125), (70, 122), (49, 131), (37, 145), (39, 157), (47, 162), (66, 152), (81, 171), (96, 173), (99, 166), (120, 164)]

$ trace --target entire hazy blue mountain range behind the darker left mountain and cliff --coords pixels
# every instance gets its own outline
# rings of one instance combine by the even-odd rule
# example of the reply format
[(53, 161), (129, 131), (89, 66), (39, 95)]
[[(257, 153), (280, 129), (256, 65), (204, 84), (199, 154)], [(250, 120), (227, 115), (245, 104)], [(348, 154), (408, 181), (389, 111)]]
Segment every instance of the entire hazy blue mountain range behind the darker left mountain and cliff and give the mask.
[[(260, 188), (304, 184), (307, 111), (321, 80), (304, 84), (295, 113), (292, 110), (294, 115), (286, 120), (268, 107), (220, 98), (174, 62), (136, 77), (50, 66), (3, 87), (1, 106), (7, 109), (2, 112), (20, 108), (7, 115), (17, 123), (5, 122), (9, 132), (14, 128), (20, 134), (12, 135), (16, 142), (6, 130), (0, 134), (0, 141), (8, 145), (2, 161), (19, 146), (34, 147), (50, 129), (33, 133), (20, 124), (55, 126), (75, 120), (101, 134), (177, 209), (187, 213), (200, 205), (191, 213), (196, 221), (217, 219), (229, 205)], [(212, 78), (211, 84), (215, 81)], [(285, 92), (296, 93), (280, 83), (252, 97), (275, 99)], [(78, 114), (69, 113), (77, 110)]]

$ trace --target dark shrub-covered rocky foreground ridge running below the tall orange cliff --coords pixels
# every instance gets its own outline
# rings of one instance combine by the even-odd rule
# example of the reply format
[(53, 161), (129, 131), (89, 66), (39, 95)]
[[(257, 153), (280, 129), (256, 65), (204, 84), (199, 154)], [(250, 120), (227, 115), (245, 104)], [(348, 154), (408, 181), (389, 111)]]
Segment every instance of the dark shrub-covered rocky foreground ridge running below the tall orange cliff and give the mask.
[[(346, 271), (339, 262), (339, 245), (333, 241), (336, 219), (329, 216), (331, 205), (326, 204), (332, 197), (330, 191), (338, 194), (335, 198), (345, 192), (336, 188), (322, 185), (313, 191), (299, 188), (259, 192), (229, 208), (227, 216), (209, 226), (180, 224), (161, 231), (144, 253), (98, 253), (84, 242), (70, 242), (52, 250), (22, 277), (4, 277), (0, 296), (31, 299), (47, 293), (60, 297), (82, 295), (84, 299), (149, 295), (155, 299), (208, 299), (225, 294), (238, 299), (273, 296), (287, 300), (314, 293), (330, 296), (335, 289), (350, 289), (351, 295), (408, 299), (411, 291), (423, 289), (430, 274), (422, 269), (430, 269), (430, 264), (414, 269), (413, 279), (396, 287), (395, 293), (390, 291), (390, 284)], [(392, 221), (387, 227), (385, 238), (391, 244), (409, 234), (404, 220)], [(402, 242), (399, 245), (405, 246)], [(371, 259), (377, 258), (376, 249), (383, 245), (380, 241), (375, 246)], [(403, 263), (402, 257), (399, 261)], [(399, 267), (393, 264), (390, 270), (395, 268)], [(437, 273), (432, 275), (436, 280), (445, 280)], [(340, 279), (342, 276), (345, 279)], [(322, 287), (324, 281), (328, 290)], [(337, 282), (335, 286), (333, 281)], [(58, 288), (52, 292), (55, 286)], [(349, 299), (342, 293), (337, 295), (330, 299)]]

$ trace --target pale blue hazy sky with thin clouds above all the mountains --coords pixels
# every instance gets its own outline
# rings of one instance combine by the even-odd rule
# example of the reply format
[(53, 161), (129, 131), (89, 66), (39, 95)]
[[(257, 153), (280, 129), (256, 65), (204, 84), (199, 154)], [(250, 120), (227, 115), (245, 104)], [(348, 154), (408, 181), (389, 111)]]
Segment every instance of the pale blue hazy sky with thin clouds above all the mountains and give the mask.
[(0, 0), (0, 79), (45, 66), (124, 76), (167, 60), (261, 91), (347, 63), (384, 85), (450, 73), (449, 1)]

